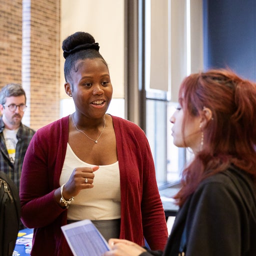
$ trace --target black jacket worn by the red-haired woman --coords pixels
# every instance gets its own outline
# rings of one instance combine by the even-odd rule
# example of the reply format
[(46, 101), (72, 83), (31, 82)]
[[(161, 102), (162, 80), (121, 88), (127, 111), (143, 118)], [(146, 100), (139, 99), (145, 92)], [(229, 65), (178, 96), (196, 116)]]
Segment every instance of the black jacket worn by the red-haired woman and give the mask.
[(179, 209), (163, 252), (177, 256), (186, 225), (186, 256), (256, 255), (256, 187), (234, 167), (204, 179)]

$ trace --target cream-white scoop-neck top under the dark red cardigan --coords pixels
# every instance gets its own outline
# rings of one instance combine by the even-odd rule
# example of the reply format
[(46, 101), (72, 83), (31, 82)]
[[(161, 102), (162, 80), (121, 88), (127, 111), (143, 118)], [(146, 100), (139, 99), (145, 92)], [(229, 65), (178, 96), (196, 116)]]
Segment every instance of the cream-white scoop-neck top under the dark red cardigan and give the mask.
[[(90, 167), (92, 164), (80, 160), (67, 144), (65, 160), (59, 183), (66, 183), (75, 167)], [(121, 217), (120, 174), (118, 161), (99, 165), (94, 171), (93, 187), (83, 189), (74, 197), (67, 209), (68, 220), (106, 220)]]

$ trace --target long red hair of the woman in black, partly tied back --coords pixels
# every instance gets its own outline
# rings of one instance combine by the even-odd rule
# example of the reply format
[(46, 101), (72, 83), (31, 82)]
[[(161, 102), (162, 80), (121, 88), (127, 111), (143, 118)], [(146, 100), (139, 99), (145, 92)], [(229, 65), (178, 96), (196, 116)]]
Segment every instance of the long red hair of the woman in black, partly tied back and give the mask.
[(203, 129), (203, 148), (182, 171), (176, 203), (181, 206), (202, 179), (230, 164), (250, 173), (256, 184), (256, 84), (231, 70), (211, 69), (182, 81), (179, 103), (183, 129), (203, 107), (211, 110), (212, 118)]

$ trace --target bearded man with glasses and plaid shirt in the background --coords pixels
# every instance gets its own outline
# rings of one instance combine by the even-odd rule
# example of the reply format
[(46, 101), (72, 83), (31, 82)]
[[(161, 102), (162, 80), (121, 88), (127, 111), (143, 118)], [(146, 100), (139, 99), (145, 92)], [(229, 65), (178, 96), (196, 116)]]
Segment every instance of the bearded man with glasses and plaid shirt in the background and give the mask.
[(22, 86), (5, 85), (0, 91), (0, 171), (13, 180), (18, 190), (24, 155), (35, 132), (21, 122), (25, 109)]

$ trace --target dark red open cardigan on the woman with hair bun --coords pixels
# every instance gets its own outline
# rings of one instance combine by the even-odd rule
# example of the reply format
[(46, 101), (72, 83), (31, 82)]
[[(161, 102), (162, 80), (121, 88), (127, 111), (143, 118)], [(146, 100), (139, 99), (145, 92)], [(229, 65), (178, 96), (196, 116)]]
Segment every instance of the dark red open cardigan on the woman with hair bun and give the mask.
[[(112, 116), (120, 170), (120, 238), (140, 245), (145, 237), (151, 249), (163, 249), (167, 228), (155, 180), (154, 163), (142, 129)], [(72, 255), (60, 226), (66, 209), (54, 200), (59, 187), (68, 139), (68, 116), (38, 129), (22, 167), (20, 180), (21, 219), (34, 228), (31, 255)]]

